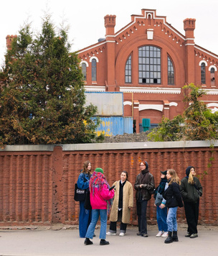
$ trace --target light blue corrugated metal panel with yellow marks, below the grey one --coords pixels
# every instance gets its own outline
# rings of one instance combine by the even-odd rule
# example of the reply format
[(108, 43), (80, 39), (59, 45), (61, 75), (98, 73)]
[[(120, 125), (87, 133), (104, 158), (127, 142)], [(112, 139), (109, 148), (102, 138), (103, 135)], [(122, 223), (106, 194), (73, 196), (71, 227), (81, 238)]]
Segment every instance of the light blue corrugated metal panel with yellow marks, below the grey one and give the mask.
[(118, 134), (133, 133), (133, 118), (123, 116), (100, 117), (102, 123), (97, 132), (105, 136), (114, 136)]

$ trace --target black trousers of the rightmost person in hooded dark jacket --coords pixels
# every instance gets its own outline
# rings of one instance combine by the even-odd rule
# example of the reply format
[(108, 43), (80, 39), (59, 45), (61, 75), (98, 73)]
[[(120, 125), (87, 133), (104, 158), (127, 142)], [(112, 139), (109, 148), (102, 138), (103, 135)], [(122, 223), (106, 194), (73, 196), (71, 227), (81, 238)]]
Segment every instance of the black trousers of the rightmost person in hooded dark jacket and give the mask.
[(197, 224), (199, 220), (199, 200), (196, 204), (184, 201), (184, 208), (186, 214), (186, 221), (188, 224), (188, 232), (190, 234), (197, 234)]

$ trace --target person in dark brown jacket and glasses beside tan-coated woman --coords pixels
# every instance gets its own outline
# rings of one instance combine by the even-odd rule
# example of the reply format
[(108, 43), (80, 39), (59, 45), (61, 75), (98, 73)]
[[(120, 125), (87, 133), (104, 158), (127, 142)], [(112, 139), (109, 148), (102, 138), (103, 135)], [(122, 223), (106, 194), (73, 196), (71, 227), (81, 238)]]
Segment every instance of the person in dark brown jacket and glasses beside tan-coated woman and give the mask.
[(146, 220), (147, 204), (151, 199), (151, 193), (153, 193), (155, 186), (153, 175), (148, 170), (148, 163), (142, 161), (139, 166), (141, 173), (137, 175), (136, 183), (134, 185), (134, 188), (136, 189), (136, 209), (138, 215), (137, 235), (148, 237)]

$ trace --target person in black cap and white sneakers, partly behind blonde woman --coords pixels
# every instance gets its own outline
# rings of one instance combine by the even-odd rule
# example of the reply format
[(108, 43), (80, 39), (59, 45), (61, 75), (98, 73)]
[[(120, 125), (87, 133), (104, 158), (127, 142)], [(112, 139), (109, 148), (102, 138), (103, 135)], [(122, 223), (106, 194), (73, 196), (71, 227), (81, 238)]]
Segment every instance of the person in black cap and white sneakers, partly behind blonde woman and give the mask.
[[(156, 198), (157, 193), (163, 195), (163, 192), (168, 188), (167, 178), (166, 178), (167, 170), (161, 171), (161, 181), (158, 187), (155, 190), (154, 198)], [(156, 204), (154, 204), (156, 206)], [(167, 217), (167, 208), (166, 208), (166, 200), (163, 198), (161, 205), (156, 206), (156, 219), (158, 223), (158, 234), (156, 237), (168, 237), (168, 227), (166, 224)]]

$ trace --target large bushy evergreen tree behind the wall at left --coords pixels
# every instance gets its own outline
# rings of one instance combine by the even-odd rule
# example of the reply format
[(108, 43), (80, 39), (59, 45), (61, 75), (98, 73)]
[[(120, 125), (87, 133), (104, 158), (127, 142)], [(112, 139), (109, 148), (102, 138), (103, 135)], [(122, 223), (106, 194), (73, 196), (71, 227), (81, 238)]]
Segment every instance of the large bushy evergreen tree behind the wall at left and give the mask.
[(1, 145), (98, 142), (97, 107), (85, 106), (77, 54), (70, 52), (67, 29), (58, 35), (50, 17), (33, 37), (24, 25), (6, 52), (1, 72)]

